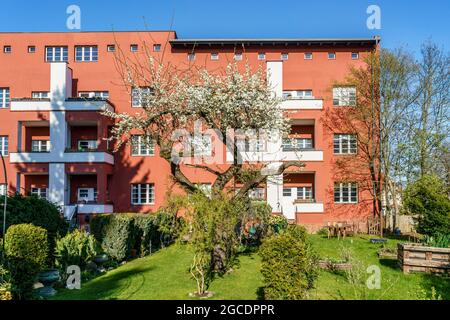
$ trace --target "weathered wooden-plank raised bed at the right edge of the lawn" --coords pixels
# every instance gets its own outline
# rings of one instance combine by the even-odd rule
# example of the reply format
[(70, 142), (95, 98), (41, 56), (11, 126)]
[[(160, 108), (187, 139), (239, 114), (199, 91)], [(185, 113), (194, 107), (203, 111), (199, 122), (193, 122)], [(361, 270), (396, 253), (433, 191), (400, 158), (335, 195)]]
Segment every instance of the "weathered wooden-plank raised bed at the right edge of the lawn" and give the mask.
[(450, 248), (399, 243), (398, 263), (404, 273), (450, 273)]

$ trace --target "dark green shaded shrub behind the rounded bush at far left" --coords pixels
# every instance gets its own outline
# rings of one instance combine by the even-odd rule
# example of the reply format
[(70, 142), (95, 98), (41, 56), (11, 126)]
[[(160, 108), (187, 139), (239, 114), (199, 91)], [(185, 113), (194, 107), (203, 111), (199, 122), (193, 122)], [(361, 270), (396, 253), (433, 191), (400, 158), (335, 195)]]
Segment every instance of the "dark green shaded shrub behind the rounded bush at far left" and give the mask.
[[(56, 238), (64, 236), (68, 230), (68, 224), (61, 215), (60, 209), (49, 201), (35, 196), (14, 195), (8, 197), (7, 228), (22, 223), (31, 223), (47, 230), (49, 244), (47, 263), (51, 265), (54, 261)], [(0, 224), (3, 224), (3, 215), (0, 215)]]

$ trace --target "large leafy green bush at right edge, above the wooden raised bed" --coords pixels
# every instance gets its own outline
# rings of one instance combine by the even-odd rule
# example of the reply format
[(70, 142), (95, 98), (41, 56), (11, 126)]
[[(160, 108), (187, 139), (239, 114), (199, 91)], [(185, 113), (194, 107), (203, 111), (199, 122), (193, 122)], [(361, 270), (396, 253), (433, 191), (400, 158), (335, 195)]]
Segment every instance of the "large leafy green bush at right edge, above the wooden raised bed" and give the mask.
[(450, 199), (444, 183), (434, 175), (424, 175), (404, 193), (403, 211), (417, 214), (417, 232), (450, 235)]

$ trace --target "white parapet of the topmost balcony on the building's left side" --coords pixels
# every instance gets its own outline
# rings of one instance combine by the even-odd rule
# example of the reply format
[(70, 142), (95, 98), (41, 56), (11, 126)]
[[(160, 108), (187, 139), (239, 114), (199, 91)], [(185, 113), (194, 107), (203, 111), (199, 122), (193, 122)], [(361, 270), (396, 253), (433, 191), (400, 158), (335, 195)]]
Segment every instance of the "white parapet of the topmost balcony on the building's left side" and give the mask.
[(69, 98), (65, 101), (50, 99), (12, 99), (11, 111), (114, 111), (112, 105), (103, 99)]

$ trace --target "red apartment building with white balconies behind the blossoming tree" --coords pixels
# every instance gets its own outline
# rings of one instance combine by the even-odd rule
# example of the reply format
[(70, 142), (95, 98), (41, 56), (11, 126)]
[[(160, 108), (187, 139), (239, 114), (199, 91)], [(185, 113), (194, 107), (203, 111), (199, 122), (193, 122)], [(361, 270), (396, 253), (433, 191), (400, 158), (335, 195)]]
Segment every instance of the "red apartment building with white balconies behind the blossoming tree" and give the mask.
[[(0, 193), (46, 197), (67, 218), (98, 213), (154, 212), (171, 188), (169, 164), (158, 147), (124, 145), (112, 153), (104, 140), (111, 119), (104, 108), (134, 113), (139, 102), (123, 86), (115, 66), (118, 48), (133, 58), (155, 57), (208, 70), (230, 61), (268, 70), (274, 93), (289, 111), (291, 135), (268, 146), (277, 161), (299, 159), (252, 196), (274, 213), (311, 228), (327, 221), (365, 220), (370, 192), (352, 177), (336, 180), (334, 162), (358, 152), (357, 132), (329, 132), (325, 111), (351, 106), (354, 88), (336, 87), (351, 66), (376, 50), (376, 39), (202, 39), (177, 38), (173, 31), (0, 33), (0, 151), (9, 183)], [(344, 93), (337, 95), (337, 93)], [(270, 150), (269, 150), (270, 151)], [(212, 177), (185, 168), (199, 184)]]

